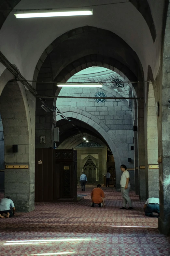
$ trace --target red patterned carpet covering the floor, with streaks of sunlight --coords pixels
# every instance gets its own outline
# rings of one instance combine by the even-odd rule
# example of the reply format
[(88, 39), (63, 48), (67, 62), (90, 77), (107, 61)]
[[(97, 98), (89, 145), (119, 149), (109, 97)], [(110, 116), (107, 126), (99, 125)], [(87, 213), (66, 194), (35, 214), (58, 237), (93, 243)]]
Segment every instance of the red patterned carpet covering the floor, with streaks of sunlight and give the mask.
[[(158, 218), (146, 217), (144, 202), (130, 193), (134, 210), (120, 210), (120, 192), (103, 188), (106, 207), (90, 207), (86, 186), (79, 202), (36, 203), (35, 211), (0, 219), (0, 256), (169, 256), (170, 237)], [(121, 226), (121, 227), (120, 227)]]

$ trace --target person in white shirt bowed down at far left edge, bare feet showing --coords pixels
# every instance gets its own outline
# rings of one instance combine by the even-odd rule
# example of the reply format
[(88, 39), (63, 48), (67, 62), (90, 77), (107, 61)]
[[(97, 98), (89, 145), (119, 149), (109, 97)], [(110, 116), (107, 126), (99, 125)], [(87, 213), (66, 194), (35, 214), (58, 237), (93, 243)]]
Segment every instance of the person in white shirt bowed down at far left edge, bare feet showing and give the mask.
[[(11, 211), (11, 208), (13, 209), (13, 213)], [(15, 215), (15, 206), (10, 196), (2, 198), (0, 201), (0, 218), (9, 218), (13, 215)]]

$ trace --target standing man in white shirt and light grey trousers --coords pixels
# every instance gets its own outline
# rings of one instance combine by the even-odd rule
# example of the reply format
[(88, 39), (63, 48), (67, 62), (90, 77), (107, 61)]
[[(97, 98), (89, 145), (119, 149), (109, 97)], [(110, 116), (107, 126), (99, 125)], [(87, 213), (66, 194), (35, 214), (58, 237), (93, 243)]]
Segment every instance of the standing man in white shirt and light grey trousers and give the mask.
[(121, 171), (123, 172), (121, 175), (121, 180), (120, 180), (120, 186), (121, 186), (121, 196), (123, 197), (123, 207), (120, 209), (126, 209), (126, 204), (128, 202), (129, 208), (126, 210), (132, 210), (132, 202), (131, 198), (129, 197), (129, 190), (131, 188), (130, 182), (129, 182), (129, 172), (126, 170), (126, 165), (122, 164), (120, 166)]

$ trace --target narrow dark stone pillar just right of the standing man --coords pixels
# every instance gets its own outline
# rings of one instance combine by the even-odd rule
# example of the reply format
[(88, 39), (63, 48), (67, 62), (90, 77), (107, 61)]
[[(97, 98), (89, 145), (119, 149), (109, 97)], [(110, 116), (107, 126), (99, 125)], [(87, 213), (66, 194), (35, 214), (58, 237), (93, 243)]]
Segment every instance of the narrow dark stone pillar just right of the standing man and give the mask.
[[(138, 83), (138, 97), (143, 96), (143, 84)], [(138, 176), (139, 176), (139, 198), (146, 200), (145, 191), (145, 128), (144, 128), (144, 101), (138, 100), (137, 106), (137, 144), (138, 144)]]

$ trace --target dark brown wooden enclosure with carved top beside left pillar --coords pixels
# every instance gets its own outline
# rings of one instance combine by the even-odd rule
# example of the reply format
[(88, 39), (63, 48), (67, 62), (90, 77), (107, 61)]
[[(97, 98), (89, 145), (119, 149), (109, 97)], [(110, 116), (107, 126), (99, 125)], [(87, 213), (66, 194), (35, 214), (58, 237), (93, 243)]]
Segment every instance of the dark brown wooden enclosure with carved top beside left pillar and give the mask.
[(77, 197), (77, 151), (35, 150), (35, 201)]

